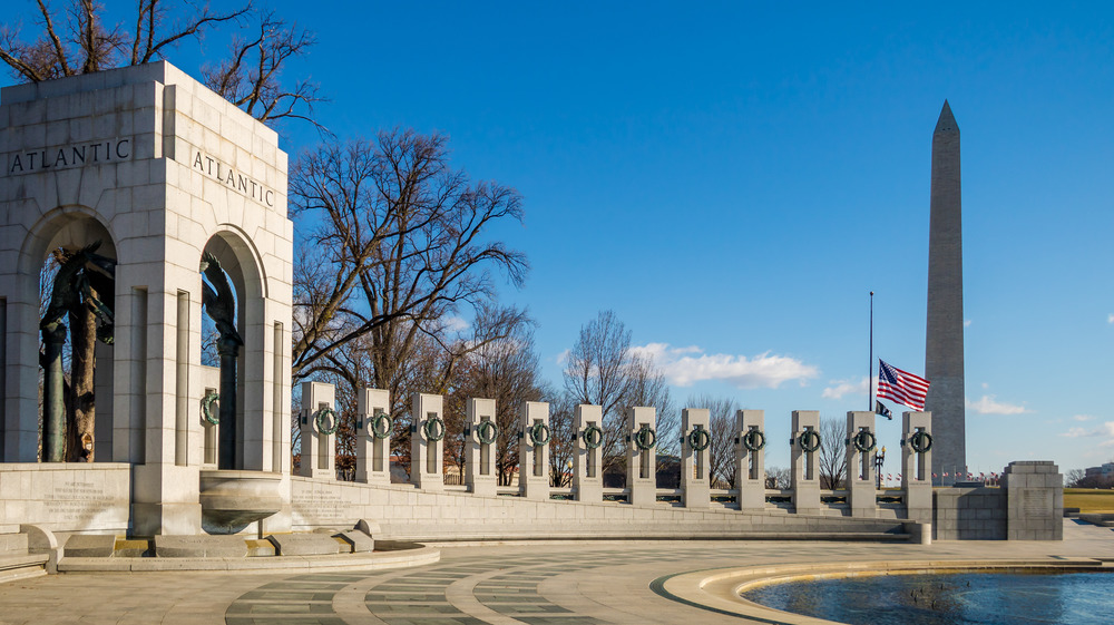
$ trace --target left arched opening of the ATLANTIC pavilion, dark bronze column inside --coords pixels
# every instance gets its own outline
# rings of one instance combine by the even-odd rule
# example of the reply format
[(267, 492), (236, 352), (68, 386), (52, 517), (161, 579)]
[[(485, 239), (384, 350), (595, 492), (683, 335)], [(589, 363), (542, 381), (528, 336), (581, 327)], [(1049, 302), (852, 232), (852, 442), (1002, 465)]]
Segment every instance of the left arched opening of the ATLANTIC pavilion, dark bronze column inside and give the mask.
[(92, 216), (63, 211), (25, 252), (25, 279), (37, 279), (39, 295), (39, 458), (111, 460), (114, 237)]

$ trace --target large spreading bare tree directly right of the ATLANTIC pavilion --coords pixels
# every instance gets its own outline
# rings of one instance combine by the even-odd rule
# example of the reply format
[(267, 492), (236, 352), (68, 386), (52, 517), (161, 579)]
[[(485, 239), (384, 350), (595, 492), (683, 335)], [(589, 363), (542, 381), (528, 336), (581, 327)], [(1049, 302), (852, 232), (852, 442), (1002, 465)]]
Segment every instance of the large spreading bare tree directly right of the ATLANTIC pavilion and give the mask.
[[(319, 266), (295, 275), (313, 283), (295, 284), (294, 379), (369, 336), (370, 381), (389, 388), (419, 336), (442, 343), (442, 320), (490, 305), (491, 270), (516, 285), (525, 279), (525, 255), (482, 237), (500, 219), (521, 219), (520, 196), (495, 183), (473, 185), (451, 169), (443, 136), (393, 130), (374, 143), (328, 145), (299, 159), (291, 198), (295, 215), (321, 223), (311, 237)], [(509, 335), (524, 316), (498, 311), (485, 341)]]

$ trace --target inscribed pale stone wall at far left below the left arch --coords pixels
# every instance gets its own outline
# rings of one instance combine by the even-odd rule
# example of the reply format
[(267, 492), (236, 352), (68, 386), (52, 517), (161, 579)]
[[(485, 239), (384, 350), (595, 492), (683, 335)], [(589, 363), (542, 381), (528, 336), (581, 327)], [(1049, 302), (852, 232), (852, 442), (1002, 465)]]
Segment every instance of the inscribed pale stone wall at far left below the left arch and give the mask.
[(127, 534), (131, 468), (118, 462), (0, 463), (0, 533)]

